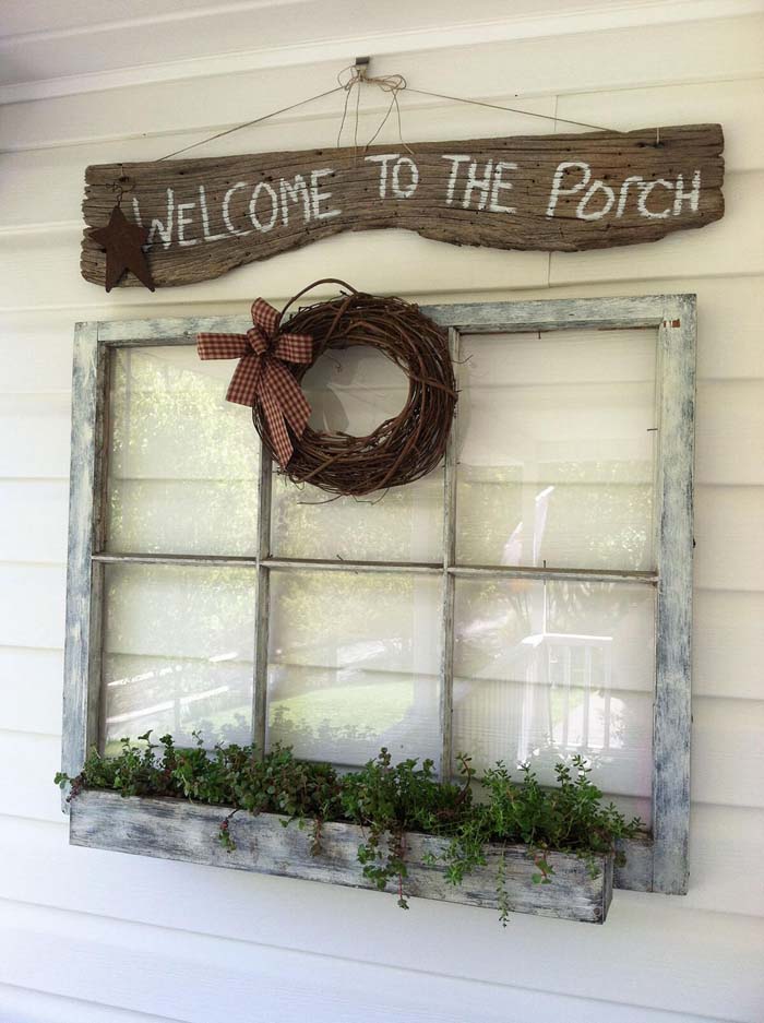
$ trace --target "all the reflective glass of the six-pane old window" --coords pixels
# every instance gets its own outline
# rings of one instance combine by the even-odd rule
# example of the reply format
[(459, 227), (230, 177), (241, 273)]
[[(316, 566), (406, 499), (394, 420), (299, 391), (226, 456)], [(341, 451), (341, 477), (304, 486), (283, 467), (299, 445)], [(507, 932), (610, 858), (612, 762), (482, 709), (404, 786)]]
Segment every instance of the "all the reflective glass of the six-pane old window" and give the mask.
[[(656, 338), (652, 331), (463, 338), (456, 556), (462, 564), (654, 567)], [(259, 441), (225, 401), (234, 364), (193, 346), (118, 349), (110, 373), (111, 551), (256, 551)], [(317, 429), (362, 436), (407, 381), (369, 348), (305, 378)], [(443, 469), (369, 498), (275, 473), (275, 557), (440, 563)], [(458, 580), (454, 750), (478, 769), (583, 752), (596, 780), (649, 817), (654, 591)], [(250, 741), (254, 572), (106, 570), (104, 740), (148, 728), (179, 744)], [(271, 573), (268, 742), (360, 764), (441, 749), (441, 579)], [(630, 802), (631, 800), (631, 802)]]

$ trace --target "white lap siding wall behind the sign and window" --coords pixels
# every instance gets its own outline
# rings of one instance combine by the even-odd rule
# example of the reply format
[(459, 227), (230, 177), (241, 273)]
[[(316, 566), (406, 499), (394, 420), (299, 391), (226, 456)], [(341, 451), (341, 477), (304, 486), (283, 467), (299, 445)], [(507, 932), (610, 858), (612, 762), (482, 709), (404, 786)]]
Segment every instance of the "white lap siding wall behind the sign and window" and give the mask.
[[(727, 214), (702, 231), (551, 258), (403, 233), (346, 235), (155, 295), (106, 296), (81, 279), (85, 165), (162, 156), (251, 110), (319, 92), (342, 62), (306, 58), (299, 74), (272, 68), (0, 107), (2, 1023), (764, 1019), (762, 52), (764, 19), (747, 16), (380, 61), (379, 71), (416, 67), (410, 76), (423, 87), (613, 128), (721, 122)], [(402, 102), (411, 141), (554, 129), (477, 107)], [(383, 100), (367, 103), (361, 138), (384, 111)], [(338, 106), (332, 97), (200, 155), (332, 145)], [(395, 128), (385, 132), (394, 144)], [(375, 893), (68, 846), (51, 780), (73, 324), (244, 313), (255, 295), (279, 302), (329, 273), (423, 301), (697, 294), (685, 897), (616, 892), (605, 927), (517, 916), (502, 931), (479, 909), (415, 902), (402, 914)]]

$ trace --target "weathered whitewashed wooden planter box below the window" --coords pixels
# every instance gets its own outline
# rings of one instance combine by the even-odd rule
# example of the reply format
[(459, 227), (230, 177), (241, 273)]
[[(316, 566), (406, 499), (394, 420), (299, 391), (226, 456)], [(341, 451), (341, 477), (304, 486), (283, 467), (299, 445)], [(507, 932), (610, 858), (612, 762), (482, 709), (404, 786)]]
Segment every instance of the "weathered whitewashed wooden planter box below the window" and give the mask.
[[(312, 830), (296, 823), (283, 826), (275, 813), (253, 817), (240, 811), (230, 820), (236, 843), (226, 849), (218, 826), (226, 807), (202, 806), (183, 799), (122, 797), (110, 792), (83, 792), (71, 805), (72, 845), (139, 853), (162, 859), (214, 867), (232, 867), (255, 873), (329, 881), (350, 888), (373, 889), (358, 863), (363, 831), (357, 824), (326, 823), (321, 830), (323, 852), (310, 852)], [(449, 884), (442, 867), (428, 866), (428, 854), (438, 856), (447, 840), (432, 835), (406, 835), (405, 879), (407, 895), (499, 909), (497, 872), (504, 856), (505, 889), (511, 913), (533, 913), (561, 919), (602, 924), (612, 897), (613, 857), (598, 856), (598, 877), (592, 878), (586, 863), (570, 853), (551, 853), (554, 868), (550, 884), (534, 884), (536, 873), (522, 845), (494, 845), (487, 864), (468, 875), (461, 885)]]

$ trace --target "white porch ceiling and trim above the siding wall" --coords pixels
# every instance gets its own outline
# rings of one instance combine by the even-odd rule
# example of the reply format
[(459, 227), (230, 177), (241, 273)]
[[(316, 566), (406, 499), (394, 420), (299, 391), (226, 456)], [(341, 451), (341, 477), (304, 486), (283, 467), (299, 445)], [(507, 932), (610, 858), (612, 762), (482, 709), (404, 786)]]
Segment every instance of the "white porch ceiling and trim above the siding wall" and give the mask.
[[(268, 8), (277, 8), (278, 16)], [(70, 21), (44, 0), (5, 0), (0, 102), (303, 64), (310, 58), (347, 60), (349, 52), (410, 53), (761, 10), (761, 0), (669, 0), (646, 14), (641, 0), (614, 8), (599, 0), (583, 9), (580, 0), (514, 0), (509, 9), (502, 0), (484, 0), (476, 23), (458, 0), (416, 8), (386, 0), (365, 9), (359, 22), (353, 0), (253, 0), (237, 3), (229, 17), (219, 16), (218, 5), (208, 0), (131, 0), (127, 9), (80, 0)], [(14, 31), (19, 24), (23, 31)], [(156, 31), (146, 32), (146, 25)], [(84, 33), (86, 50), (79, 45)], [(254, 49), (236, 52), (242, 40)], [(126, 68), (126, 58), (140, 66)]]

